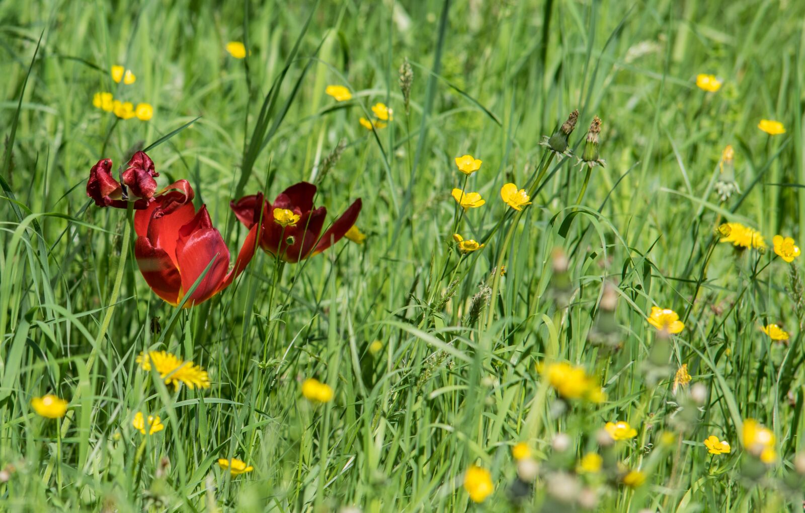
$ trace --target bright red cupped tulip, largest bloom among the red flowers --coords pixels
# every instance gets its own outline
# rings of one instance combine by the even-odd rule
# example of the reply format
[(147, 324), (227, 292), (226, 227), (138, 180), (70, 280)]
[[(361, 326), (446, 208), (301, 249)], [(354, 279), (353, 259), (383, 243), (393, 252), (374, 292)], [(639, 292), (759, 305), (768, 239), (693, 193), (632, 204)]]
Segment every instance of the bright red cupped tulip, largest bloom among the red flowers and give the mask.
[(188, 181), (179, 180), (163, 189), (146, 209), (134, 213), (134, 231), (138, 235), (134, 256), (142, 277), (157, 296), (174, 306), (210, 263), (212, 266), (185, 306), (206, 301), (229, 287), (257, 249), (259, 230), (253, 226), (233, 269), (227, 272), (229, 249), (213, 227), (207, 207), (196, 212), (192, 199)]

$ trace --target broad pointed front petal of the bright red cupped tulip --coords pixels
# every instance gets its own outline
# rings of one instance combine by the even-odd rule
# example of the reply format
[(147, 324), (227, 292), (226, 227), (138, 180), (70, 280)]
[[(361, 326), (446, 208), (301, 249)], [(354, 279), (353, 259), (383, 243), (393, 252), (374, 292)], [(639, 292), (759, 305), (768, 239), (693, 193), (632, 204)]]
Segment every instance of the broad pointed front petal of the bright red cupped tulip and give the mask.
[(209, 263), (213, 263), (190, 296), (188, 304), (199, 304), (218, 291), (229, 268), (229, 249), (218, 230), (213, 228), (206, 206), (202, 206), (196, 217), (180, 228), (179, 240), (176, 242), (176, 259), (185, 293), (196, 283), (196, 279)]

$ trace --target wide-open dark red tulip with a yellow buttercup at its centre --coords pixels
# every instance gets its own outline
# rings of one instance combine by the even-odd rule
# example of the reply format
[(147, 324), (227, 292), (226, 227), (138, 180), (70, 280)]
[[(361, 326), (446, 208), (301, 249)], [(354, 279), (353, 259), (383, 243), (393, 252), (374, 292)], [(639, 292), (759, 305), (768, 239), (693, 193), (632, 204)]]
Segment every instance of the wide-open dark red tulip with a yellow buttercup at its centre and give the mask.
[(230, 203), (235, 216), (246, 228), (254, 228), (260, 219), (262, 205), (262, 236), (260, 246), (286, 262), (299, 262), (319, 254), (338, 242), (352, 228), (361, 213), (357, 199), (345, 213), (324, 232), (325, 207), (313, 209), (316, 185), (299, 182), (281, 193), (274, 203), (263, 201), (262, 194), (242, 197)]

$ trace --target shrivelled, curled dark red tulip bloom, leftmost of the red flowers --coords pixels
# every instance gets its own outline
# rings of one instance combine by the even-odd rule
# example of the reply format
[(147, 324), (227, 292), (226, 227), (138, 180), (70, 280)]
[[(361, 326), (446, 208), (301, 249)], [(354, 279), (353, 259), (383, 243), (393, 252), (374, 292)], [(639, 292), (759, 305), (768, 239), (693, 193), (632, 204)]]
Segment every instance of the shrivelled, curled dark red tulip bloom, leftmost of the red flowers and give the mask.
[(145, 209), (151, 203), (156, 191), (154, 162), (144, 151), (135, 153), (121, 177), (123, 186), (111, 173), (112, 159), (98, 160), (89, 170), (87, 196), (99, 207), (125, 209), (128, 201), (134, 201), (134, 209)]

